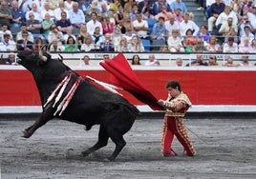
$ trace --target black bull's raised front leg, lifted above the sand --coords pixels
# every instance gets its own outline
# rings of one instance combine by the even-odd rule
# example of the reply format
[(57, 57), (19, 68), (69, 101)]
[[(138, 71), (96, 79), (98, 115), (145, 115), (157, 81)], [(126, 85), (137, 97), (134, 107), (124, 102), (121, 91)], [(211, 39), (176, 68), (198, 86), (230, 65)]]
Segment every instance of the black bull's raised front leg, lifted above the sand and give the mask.
[(44, 110), (41, 113), (40, 117), (33, 123), (33, 125), (31, 127), (22, 130), (22, 133), (23, 133), (22, 137), (30, 138), (36, 129), (45, 125), (51, 119), (53, 119), (53, 111)]

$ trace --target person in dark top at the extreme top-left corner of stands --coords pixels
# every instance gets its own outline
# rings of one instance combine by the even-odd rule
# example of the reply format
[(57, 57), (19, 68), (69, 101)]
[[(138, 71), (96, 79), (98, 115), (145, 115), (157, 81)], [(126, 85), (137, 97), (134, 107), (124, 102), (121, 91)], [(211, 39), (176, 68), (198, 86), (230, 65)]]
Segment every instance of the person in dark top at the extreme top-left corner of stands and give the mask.
[(1, 1), (1, 6), (0, 6), (0, 24), (7, 24), (8, 27), (11, 27), (11, 10), (9, 8), (9, 5), (6, 1)]

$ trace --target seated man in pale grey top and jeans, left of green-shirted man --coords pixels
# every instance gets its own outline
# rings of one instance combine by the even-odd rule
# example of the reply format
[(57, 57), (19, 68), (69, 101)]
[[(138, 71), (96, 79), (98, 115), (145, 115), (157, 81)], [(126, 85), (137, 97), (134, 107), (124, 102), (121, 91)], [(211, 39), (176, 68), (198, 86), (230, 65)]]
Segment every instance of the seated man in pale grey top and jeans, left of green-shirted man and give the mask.
[(30, 19), (27, 21), (27, 30), (32, 33), (33, 38), (45, 38), (41, 34), (42, 24), (34, 19), (32, 12), (29, 14), (29, 18)]

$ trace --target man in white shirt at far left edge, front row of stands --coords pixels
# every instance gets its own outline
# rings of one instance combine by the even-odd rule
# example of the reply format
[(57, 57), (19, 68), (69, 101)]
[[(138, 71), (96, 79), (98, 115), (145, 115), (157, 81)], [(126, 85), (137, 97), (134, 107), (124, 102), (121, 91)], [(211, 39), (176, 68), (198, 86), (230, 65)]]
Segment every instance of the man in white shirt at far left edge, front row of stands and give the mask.
[[(9, 33), (5, 33), (3, 35), (3, 39), (0, 42), (0, 51), (1, 53), (11, 52), (16, 50), (16, 43), (11, 41), (11, 35)], [(2, 58), (8, 63), (8, 54), (1, 54)]]

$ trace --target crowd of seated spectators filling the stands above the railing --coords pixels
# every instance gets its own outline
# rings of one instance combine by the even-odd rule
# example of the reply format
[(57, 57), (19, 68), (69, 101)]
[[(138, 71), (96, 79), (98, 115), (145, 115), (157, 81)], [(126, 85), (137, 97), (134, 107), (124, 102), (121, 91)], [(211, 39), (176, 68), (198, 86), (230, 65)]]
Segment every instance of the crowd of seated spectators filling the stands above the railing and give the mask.
[(256, 52), (252, 0), (206, 0), (207, 25), (201, 27), (181, 0), (0, 3), (0, 51), (36, 50), (41, 39), (49, 51), (144, 52), (146, 41), (161, 52)]

